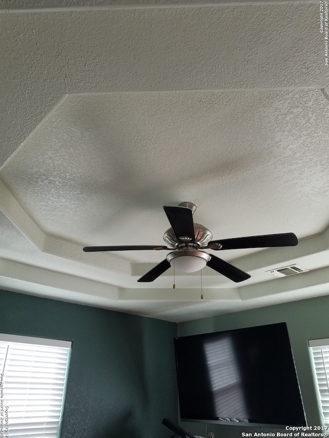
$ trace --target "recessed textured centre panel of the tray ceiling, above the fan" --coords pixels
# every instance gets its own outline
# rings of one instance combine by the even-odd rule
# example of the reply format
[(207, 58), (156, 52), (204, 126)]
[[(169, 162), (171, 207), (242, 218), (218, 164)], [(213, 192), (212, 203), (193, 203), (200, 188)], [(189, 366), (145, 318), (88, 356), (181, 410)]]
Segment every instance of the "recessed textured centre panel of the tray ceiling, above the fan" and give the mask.
[(0, 176), (42, 230), (82, 244), (161, 244), (173, 198), (202, 205), (214, 238), (302, 237), (327, 222), (327, 108), (319, 90), (75, 94)]

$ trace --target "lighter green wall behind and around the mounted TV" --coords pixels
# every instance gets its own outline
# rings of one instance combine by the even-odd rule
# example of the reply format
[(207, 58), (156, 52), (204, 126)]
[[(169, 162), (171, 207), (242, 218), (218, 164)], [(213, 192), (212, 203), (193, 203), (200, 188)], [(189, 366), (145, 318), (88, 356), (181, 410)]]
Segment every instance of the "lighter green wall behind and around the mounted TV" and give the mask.
[[(178, 324), (178, 336), (261, 326), (276, 322), (287, 323), (307, 424), (320, 425), (307, 340), (329, 338), (329, 296), (180, 322)], [(215, 433), (215, 438), (218, 436), (240, 438), (242, 432), (276, 432), (275, 429), (205, 425), (202, 423), (182, 422), (181, 426), (194, 434), (202, 436), (206, 434), (206, 430), (208, 432), (212, 431)], [(282, 429), (277, 431), (284, 432)]]

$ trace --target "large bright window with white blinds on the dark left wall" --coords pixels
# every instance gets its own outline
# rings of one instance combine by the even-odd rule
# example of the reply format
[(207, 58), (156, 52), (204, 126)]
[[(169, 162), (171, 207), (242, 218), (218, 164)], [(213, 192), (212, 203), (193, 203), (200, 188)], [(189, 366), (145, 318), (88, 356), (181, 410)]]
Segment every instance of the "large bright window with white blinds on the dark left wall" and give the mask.
[(1, 436), (58, 438), (71, 342), (0, 334)]

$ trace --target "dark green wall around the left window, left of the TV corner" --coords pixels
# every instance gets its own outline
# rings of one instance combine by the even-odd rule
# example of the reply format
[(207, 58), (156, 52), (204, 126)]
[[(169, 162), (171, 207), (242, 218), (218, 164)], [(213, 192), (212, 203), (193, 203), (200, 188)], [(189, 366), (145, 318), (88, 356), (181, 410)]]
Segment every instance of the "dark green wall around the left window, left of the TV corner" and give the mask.
[(0, 291), (0, 333), (72, 341), (63, 438), (168, 438), (176, 323)]

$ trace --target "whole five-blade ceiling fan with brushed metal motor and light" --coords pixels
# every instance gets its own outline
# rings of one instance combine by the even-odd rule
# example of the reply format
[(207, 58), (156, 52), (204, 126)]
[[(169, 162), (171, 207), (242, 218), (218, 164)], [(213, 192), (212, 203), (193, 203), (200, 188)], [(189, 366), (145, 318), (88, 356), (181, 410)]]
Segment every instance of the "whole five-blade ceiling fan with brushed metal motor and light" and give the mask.
[(212, 233), (204, 225), (193, 222), (196, 205), (193, 202), (182, 202), (177, 207), (163, 206), (171, 228), (163, 235), (169, 246), (162, 245), (128, 245), (128, 246), (85, 246), (83, 251), (140, 251), (140, 250), (173, 250), (151, 271), (137, 281), (150, 282), (163, 274), (170, 266), (178, 271), (196, 272), (209, 268), (219, 272), (236, 283), (250, 278), (246, 272), (235, 268), (232, 264), (206, 253), (205, 249), (222, 251), (246, 248), (266, 248), (274, 246), (295, 246), (298, 243), (294, 233), (267, 234), (264, 236), (237, 237), (232, 239), (211, 240)]

